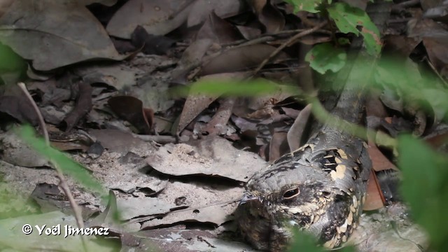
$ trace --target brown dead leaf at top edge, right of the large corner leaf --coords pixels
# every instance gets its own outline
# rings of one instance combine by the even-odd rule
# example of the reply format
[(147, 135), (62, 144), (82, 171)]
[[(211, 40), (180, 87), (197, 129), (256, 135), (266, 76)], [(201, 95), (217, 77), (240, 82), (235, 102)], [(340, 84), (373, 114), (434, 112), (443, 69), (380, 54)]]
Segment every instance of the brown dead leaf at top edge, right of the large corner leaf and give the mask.
[(130, 0), (113, 15), (106, 29), (119, 38), (131, 38), (138, 25), (144, 27), (148, 34), (165, 35), (187, 20), (192, 2)]

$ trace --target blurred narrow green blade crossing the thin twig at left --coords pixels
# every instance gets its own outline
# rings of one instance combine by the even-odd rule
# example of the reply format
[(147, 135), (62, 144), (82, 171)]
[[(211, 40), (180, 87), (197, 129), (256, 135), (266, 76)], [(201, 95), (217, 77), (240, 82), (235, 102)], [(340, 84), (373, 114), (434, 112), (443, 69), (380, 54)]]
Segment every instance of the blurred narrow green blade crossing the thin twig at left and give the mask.
[(24, 141), (27, 142), (27, 144), (29, 144), (29, 146), (34, 148), (45, 158), (48, 158), (48, 160), (51, 160), (51, 162), (54, 162), (62, 170), (62, 172), (64, 172), (64, 174), (68, 174), (82, 186), (85, 186), (85, 188), (97, 193), (102, 193), (102, 195), (106, 195), (102, 185), (90, 176), (82, 165), (71, 160), (71, 158), (68, 158), (64, 155), (64, 153), (47, 146), (43, 139), (35, 137), (32, 127), (22, 126), (18, 129), (18, 134)]

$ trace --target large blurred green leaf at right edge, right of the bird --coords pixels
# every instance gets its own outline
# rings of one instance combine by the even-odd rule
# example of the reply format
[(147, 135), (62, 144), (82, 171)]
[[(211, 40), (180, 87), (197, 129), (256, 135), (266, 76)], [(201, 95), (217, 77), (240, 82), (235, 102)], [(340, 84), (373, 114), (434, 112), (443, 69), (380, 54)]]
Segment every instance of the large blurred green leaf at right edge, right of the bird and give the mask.
[(399, 138), (401, 193), (412, 216), (430, 237), (434, 251), (444, 251), (448, 239), (448, 159), (411, 136)]

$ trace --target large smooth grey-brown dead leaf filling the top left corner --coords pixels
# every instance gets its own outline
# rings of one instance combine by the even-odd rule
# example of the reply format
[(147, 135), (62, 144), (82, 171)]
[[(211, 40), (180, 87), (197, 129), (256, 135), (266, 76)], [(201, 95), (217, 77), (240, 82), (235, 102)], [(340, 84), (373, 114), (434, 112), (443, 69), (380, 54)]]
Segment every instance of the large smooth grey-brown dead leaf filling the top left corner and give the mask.
[(36, 70), (119, 55), (101, 23), (75, 1), (18, 0), (0, 17), (0, 41)]

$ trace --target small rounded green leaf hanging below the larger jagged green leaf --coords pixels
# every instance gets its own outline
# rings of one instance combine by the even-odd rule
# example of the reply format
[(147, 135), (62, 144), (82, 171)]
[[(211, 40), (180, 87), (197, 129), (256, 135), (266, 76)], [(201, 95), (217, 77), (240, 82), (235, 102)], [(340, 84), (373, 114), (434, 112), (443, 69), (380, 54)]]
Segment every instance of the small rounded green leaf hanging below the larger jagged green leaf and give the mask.
[(325, 73), (327, 70), (337, 72), (346, 63), (347, 55), (341, 48), (334, 48), (330, 43), (321, 43), (314, 45), (305, 56), (314, 70), (318, 73)]

